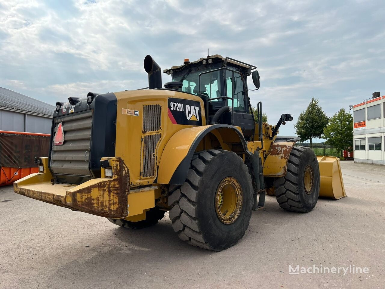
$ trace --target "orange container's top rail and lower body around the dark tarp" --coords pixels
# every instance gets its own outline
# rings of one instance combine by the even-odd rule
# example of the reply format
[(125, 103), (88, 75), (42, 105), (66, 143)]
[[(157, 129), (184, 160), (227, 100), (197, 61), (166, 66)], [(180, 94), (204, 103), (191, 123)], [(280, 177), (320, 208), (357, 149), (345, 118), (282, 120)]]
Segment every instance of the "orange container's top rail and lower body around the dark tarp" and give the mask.
[[(46, 133), (24, 133), (21, 131), (0, 131), (0, 133), (50, 136), (50, 134), (46, 134)], [(0, 166), (0, 187), (5, 185), (11, 185), (14, 181), (20, 180), (25, 176), (28, 176), (32, 173), (38, 173), (38, 172), (39, 172), (39, 167), (37, 166), (32, 168), (8, 168), (8, 167)]]

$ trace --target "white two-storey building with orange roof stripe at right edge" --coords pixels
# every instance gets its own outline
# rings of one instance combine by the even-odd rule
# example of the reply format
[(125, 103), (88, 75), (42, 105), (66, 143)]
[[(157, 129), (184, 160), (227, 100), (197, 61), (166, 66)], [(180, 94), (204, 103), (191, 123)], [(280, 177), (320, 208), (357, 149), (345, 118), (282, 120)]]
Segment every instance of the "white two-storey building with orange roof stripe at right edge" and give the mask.
[(385, 96), (374, 92), (352, 107), (354, 161), (385, 165)]

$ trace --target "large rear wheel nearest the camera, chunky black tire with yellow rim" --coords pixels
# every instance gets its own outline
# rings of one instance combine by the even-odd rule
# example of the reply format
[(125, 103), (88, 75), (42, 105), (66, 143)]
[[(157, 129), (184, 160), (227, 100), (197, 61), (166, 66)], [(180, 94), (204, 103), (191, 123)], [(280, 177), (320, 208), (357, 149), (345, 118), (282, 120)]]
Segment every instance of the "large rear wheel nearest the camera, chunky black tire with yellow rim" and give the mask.
[(173, 189), (169, 217), (179, 239), (221, 251), (243, 237), (250, 222), (253, 188), (248, 167), (236, 153), (195, 154), (186, 181)]

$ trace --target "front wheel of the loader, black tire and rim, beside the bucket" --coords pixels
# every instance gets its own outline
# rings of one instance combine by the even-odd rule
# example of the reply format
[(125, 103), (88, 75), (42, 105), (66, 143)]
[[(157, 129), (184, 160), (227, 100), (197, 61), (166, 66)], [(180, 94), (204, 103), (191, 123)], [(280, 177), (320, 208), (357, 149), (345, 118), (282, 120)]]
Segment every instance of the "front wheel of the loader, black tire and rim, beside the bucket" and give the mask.
[(281, 208), (291, 212), (310, 212), (320, 194), (320, 168), (315, 153), (305, 146), (291, 150), (286, 175), (274, 181)]

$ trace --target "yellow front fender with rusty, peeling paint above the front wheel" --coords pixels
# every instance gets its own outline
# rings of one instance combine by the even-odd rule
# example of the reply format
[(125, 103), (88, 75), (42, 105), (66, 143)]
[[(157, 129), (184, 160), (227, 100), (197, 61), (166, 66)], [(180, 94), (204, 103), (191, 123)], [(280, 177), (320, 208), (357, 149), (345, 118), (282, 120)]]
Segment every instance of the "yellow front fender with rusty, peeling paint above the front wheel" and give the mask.
[(287, 163), (295, 141), (272, 143), (263, 164), (263, 175), (281, 177), (286, 175)]

